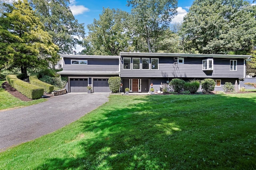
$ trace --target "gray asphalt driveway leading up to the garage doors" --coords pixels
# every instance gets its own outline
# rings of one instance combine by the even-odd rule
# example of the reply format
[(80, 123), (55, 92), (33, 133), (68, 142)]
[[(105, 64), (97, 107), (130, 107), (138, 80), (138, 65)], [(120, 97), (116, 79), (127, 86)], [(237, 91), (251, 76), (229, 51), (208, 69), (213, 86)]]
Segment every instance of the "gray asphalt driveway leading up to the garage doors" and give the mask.
[(72, 123), (108, 101), (109, 94), (69, 93), (33, 106), (0, 111), (0, 151)]

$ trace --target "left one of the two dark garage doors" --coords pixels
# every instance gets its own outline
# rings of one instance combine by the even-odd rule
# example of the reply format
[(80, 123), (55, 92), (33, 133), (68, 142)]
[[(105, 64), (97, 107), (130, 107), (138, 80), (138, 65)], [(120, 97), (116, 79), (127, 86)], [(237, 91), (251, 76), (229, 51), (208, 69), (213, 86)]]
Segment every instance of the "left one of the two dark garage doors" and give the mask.
[(70, 92), (87, 92), (87, 78), (70, 78)]

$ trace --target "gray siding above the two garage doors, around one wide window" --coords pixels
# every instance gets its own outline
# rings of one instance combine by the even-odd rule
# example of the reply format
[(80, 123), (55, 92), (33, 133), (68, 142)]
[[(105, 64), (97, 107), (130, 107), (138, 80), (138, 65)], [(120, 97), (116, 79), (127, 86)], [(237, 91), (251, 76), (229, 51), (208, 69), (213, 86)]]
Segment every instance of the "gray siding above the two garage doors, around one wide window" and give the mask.
[[(71, 64), (71, 60), (87, 60), (87, 65)], [(118, 59), (64, 58), (65, 71), (119, 71)]]

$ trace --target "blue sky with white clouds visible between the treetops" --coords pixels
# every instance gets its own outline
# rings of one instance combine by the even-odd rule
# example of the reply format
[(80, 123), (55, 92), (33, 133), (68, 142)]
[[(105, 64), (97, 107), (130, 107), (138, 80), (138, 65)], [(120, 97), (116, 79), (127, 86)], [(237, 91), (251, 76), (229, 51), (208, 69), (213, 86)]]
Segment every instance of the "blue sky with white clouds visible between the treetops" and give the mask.
[[(183, 20), (183, 17), (193, 4), (194, 0), (178, 0), (177, 16), (173, 19), (174, 22)], [(252, 3), (253, 0), (249, 0)], [(99, 15), (104, 8), (118, 8), (130, 12), (131, 8), (126, 6), (127, 0), (70, 0), (70, 9), (79, 23), (84, 23), (85, 31), (88, 32), (87, 25), (94, 20), (99, 19)], [(80, 46), (76, 47), (76, 51), (81, 51)]]

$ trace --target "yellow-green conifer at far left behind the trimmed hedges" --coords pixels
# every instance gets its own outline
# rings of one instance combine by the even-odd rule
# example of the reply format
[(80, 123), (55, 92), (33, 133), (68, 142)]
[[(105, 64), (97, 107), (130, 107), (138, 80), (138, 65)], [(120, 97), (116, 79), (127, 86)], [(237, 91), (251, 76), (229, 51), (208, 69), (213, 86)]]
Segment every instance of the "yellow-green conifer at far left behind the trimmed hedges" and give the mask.
[(0, 56), (9, 68), (20, 67), (27, 74), (27, 68), (60, 59), (58, 46), (52, 43), (51, 36), (27, 0), (18, 0), (13, 6), (7, 5), (8, 12), (0, 17)]

